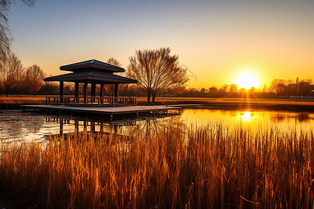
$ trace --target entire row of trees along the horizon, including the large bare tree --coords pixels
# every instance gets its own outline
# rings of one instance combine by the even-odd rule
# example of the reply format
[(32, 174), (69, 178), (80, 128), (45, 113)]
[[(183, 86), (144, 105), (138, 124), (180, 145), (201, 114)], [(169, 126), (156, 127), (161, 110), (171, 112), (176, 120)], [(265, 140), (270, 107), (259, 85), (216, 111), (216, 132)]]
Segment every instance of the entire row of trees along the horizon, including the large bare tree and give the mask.
[[(138, 80), (138, 84), (120, 84), (119, 95), (146, 96), (147, 102), (155, 102), (156, 96), (181, 97), (241, 97), (254, 95), (255, 97), (294, 97), (306, 98), (313, 96), (314, 85), (311, 79), (274, 79), (267, 88), (262, 89), (238, 88), (236, 84), (223, 84), (220, 88), (186, 88), (186, 69), (179, 67), (179, 56), (171, 55), (170, 48), (136, 50), (130, 56), (130, 64), (121, 76)], [(110, 58), (107, 63), (121, 67), (117, 59)], [(10, 54), (5, 61), (1, 61), (0, 91), (10, 93), (44, 95), (59, 94), (59, 83), (43, 82), (45, 73), (38, 65), (24, 68), (15, 54)], [(79, 86), (82, 93), (83, 86)], [(100, 91), (98, 89), (98, 91)], [(112, 95), (113, 85), (105, 85), (105, 95)], [(66, 95), (74, 94), (74, 84), (66, 83)]]

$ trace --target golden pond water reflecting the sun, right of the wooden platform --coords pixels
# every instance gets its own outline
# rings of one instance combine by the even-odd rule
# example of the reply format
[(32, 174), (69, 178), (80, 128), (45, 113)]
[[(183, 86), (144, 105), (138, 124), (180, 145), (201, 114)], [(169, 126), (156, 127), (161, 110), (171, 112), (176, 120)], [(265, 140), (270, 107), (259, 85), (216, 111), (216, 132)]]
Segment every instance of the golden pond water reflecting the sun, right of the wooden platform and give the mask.
[(186, 124), (207, 125), (208, 123), (223, 123), (234, 127), (244, 125), (252, 130), (261, 130), (276, 125), (280, 130), (313, 130), (314, 114), (308, 112), (288, 111), (235, 111), (216, 109), (184, 109), (181, 118)]

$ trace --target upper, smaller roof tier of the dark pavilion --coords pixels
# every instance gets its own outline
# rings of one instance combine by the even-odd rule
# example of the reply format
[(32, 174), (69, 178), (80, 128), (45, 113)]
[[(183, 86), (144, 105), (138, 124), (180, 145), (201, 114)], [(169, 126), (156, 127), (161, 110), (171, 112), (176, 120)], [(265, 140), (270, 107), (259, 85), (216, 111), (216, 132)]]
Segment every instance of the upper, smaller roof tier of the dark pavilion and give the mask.
[(73, 63), (70, 65), (63, 65), (60, 67), (60, 70), (66, 71), (79, 71), (79, 70), (102, 70), (105, 72), (124, 72), (124, 68), (120, 68), (116, 65), (111, 65), (109, 63), (104, 63), (96, 59), (91, 59), (88, 61), (82, 61), (79, 63)]

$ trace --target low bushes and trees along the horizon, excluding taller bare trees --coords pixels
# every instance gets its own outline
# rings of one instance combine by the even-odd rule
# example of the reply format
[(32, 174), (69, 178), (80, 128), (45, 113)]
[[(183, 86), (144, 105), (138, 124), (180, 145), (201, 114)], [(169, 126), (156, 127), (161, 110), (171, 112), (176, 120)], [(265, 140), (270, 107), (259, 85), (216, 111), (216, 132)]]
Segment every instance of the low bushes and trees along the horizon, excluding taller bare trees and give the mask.
[[(245, 97), (247, 95), (257, 98), (313, 98), (314, 97), (314, 85), (311, 82), (299, 82), (298, 84), (287, 84), (283, 80), (274, 79), (269, 88), (264, 87), (262, 90), (256, 88), (237, 89), (237, 85), (224, 84), (221, 88), (185, 88), (180, 93), (168, 93), (162, 92), (158, 94), (161, 97)], [(19, 83), (14, 88), (10, 89), (10, 95), (29, 95), (34, 91), (31, 88), (27, 88), (24, 82)], [(105, 85), (104, 94), (113, 94), (113, 85)], [(65, 82), (64, 95), (74, 95), (74, 83)], [(89, 87), (87, 88), (89, 92)], [(96, 86), (96, 95), (99, 95), (100, 87)], [(2, 95), (6, 94), (6, 91), (0, 92)], [(59, 95), (59, 83), (58, 82), (42, 82), (42, 85), (36, 91), (37, 95)], [(79, 94), (83, 94), (83, 84), (79, 86)], [(120, 84), (119, 85), (120, 96), (146, 96), (146, 93), (142, 88), (138, 88), (135, 84)]]

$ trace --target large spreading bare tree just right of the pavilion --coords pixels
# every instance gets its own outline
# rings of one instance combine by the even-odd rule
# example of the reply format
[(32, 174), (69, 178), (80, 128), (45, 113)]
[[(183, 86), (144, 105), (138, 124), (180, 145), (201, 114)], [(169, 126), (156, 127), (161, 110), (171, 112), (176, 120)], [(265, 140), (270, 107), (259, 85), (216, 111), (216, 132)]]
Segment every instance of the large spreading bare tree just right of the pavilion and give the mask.
[(188, 82), (186, 69), (179, 66), (179, 56), (170, 55), (170, 48), (136, 50), (129, 58), (128, 76), (137, 79), (147, 93), (147, 102), (166, 89), (176, 89)]

